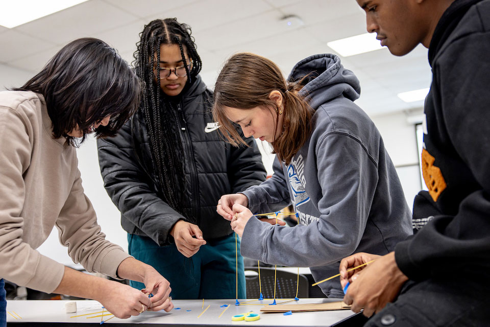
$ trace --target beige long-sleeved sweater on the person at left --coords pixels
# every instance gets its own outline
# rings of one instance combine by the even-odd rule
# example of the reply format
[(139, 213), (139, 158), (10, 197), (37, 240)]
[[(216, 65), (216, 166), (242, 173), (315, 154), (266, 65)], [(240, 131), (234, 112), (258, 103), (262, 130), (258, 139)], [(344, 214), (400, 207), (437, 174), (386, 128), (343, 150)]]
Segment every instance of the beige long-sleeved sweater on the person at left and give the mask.
[(35, 250), (53, 226), (75, 263), (116, 277), (130, 255), (105, 240), (77, 165), (76, 149), (53, 138), (41, 95), (0, 92), (0, 278), (53, 292), (64, 267)]

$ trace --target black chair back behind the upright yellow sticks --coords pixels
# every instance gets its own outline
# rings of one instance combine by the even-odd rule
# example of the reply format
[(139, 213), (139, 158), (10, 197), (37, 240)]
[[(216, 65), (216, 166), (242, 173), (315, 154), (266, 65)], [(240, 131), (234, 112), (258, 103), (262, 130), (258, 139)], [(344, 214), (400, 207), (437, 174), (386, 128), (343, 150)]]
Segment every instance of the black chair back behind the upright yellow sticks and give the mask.
[[(255, 271), (257, 275), (246, 276), (247, 280), (247, 298), (259, 298), (260, 285), (258, 267), (245, 267), (245, 271)], [(262, 286), (262, 295), (264, 298), (274, 298), (274, 270), (275, 268), (260, 267), (260, 282)], [(295, 298), (296, 283), (298, 274), (277, 270), (276, 275), (276, 298)], [(305, 275), (300, 274), (298, 286), (298, 298), (308, 297), (308, 279)]]

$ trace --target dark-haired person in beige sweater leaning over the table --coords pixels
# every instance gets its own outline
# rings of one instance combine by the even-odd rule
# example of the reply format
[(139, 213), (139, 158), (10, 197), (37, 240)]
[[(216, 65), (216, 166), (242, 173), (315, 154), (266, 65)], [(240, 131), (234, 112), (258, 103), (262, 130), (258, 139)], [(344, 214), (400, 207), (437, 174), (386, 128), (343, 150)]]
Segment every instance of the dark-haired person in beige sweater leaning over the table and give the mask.
[[(168, 281), (105, 240), (77, 168), (76, 147), (91, 132), (114, 135), (138, 107), (139, 92), (128, 64), (94, 38), (72, 41), (22, 87), (0, 92), (2, 284), (5, 278), (46, 293), (95, 299), (118, 318), (173, 309)], [(54, 226), (75, 263), (145, 288), (85, 274), (40, 254), (36, 248)], [(5, 312), (0, 305), (0, 314)]]

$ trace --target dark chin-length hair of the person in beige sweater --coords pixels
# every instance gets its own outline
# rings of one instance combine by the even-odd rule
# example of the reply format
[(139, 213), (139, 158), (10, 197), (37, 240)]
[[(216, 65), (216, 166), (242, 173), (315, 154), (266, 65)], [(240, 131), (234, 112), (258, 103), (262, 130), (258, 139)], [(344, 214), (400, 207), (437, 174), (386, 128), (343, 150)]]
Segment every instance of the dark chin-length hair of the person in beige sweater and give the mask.
[[(114, 136), (137, 110), (140, 83), (133, 69), (107, 43), (80, 38), (63, 46), (41, 71), (13, 90), (41, 94), (53, 124), (55, 138), (81, 144), (92, 124), (111, 115), (107, 126), (96, 128), (96, 137)], [(80, 142), (67, 133), (78, 128)]]

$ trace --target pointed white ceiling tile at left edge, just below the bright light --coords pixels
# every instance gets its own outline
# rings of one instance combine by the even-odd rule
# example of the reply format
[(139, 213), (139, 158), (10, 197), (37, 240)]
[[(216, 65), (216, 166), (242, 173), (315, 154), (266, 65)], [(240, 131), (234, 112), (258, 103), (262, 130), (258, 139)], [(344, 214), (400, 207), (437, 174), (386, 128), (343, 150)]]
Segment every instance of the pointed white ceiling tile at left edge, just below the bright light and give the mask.
[(54, 46), (53, 43), (44, 42), (14, 29), (0, 34), (0, 44), (2, 44), (2, 51), (0, 51), (2, 62), (27, 57)]

